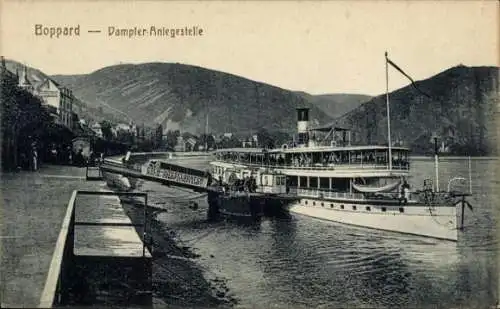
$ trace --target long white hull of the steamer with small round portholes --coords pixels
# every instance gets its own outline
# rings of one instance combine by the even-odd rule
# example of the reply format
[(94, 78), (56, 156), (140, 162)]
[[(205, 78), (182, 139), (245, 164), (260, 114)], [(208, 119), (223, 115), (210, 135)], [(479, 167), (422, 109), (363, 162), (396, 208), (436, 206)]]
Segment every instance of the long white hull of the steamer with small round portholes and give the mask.
[[(342, 206), (344, 209), (341, 209)], [(355, 210), (353, 210), (353, 206)], [(403, 208), (403, 212), (400, 208)], [(457, 220), (459, 218), (457, 218), (456, 207), (384, 206), (303, 198), (299, 202), (291, 204), (289, 211), (377, 230), (451, 241), (457, 241), (458, 238)]]

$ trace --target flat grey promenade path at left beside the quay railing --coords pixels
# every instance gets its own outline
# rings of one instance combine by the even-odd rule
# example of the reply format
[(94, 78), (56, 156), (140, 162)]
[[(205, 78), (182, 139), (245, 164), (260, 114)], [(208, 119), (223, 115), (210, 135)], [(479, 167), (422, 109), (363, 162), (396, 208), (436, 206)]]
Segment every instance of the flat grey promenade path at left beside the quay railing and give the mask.
[(73, 190), (98, 190), (85, 168), (44, 166), (0, 175), (0, 305), (38, 306)]

